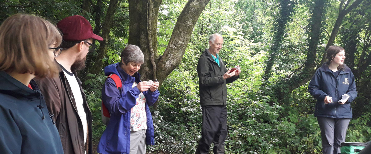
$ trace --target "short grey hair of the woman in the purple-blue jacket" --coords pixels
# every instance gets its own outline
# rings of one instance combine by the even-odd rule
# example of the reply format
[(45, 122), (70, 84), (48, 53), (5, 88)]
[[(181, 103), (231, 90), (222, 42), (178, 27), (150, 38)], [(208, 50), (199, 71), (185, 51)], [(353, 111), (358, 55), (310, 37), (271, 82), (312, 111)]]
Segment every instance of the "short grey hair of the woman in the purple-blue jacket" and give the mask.
[(121, 62), (128, 64), (128, 62), (144, 63), (144, 55), (137, 45), (129, 44), (121, 52)]

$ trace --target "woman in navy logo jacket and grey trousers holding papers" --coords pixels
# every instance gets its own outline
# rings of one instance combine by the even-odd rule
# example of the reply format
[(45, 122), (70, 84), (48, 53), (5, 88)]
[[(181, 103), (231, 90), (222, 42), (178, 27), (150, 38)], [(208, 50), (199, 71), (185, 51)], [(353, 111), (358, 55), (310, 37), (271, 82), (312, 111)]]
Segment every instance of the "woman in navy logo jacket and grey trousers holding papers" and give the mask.
[[(357, 97), (357, 89), (351, 69), (344, 65), (344, 48), (330, 46), (326, 59), (309, 82), (308, 91), (317, 99), (314, 116), (321, 129), (322, 153), (338, 154), (352, 119), (350, 103)], [(349, 98), (338, 102), (342, 95)]]

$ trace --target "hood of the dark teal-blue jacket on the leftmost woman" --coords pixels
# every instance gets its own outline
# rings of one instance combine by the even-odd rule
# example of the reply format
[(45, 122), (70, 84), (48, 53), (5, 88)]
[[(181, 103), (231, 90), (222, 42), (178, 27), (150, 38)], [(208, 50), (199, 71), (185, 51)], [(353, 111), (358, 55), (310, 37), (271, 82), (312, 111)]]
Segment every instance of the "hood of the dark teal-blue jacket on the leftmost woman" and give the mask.
[(34, 90), (28, 88), (23, 83), (14, 79), (8, 73), (4, 71), (0, 72), (0, 93), (12, 95), (12, 96), (24, 96), (24, 97), (37, 96), (38, 97), (40, 95), (37, 92), (39, 88), (37, 86), (34, 86), (36, 85), (35, 81), (31, 80), (30, 84), (32, 85), (32, 88)]

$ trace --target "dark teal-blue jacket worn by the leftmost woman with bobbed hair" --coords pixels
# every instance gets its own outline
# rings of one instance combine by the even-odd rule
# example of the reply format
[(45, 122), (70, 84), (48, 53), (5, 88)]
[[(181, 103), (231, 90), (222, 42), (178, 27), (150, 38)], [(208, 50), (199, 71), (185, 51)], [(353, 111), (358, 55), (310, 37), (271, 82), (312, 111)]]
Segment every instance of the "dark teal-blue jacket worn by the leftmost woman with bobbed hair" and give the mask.
[(35, 81), (30, 85), (0, 72), (0, 153), (63, 154), (43, 96)]

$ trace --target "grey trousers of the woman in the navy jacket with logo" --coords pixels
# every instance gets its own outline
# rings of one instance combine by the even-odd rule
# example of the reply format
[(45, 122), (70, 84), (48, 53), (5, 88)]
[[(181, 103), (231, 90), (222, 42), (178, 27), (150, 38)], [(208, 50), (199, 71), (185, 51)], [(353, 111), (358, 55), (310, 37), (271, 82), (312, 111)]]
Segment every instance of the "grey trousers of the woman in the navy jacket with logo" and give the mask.
[(340, 143), (345, 142), (348, 124), (351, 119), (335, 119), (329, 117), (318, 117), (319, 128), (321, 129), (322, 153), (340, 153)]

